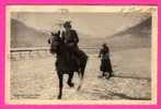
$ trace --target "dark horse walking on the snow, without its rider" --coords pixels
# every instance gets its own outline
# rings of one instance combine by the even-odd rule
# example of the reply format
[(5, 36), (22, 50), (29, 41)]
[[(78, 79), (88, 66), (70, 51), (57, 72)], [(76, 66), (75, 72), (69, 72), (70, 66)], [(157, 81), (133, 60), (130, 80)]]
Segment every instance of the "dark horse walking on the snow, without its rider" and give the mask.
[(73, 73), (77, 72), (80, 77), (80, 84), (78, 87), (78, 90), (81, 88), (82, 80), (84, 75), (84, 70), (87, 66), (88, 56), (80, 50), (79, 58), (77, 58), (79, 61), (76, 61), (71, 58), (71, 52), (69, 52), (68, 46), (62, 41), (62, 39), (59, 37), (59, 33), (51, 33), (51, 37), (48, 39), (48, 43), (50, 44), (50, 52), (54, 55), (56, 53), (56, 70), (57, 75), (59, 78), (59, 94), (58, 99), (61, 99), (62, 96), (62, 87), (64, 87), (64, 74), (68, 74), (69, 78), (67, 81), (67, 84), (70, 87), (73, 87), (74, 84), (72, 83)]

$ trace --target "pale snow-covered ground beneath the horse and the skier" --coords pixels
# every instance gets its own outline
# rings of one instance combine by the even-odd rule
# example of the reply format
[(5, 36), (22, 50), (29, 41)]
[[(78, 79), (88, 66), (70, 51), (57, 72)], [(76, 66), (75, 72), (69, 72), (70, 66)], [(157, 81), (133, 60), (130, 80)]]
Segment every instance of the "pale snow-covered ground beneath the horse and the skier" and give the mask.
[[(67, 75), (64, 81), (62, 99), (151, 99), (150, 48), (139, 48), (111, 52), (115, 76), (99, 78), (100, 60), (90, 55), (83, 86), (77, 92), (70, 88)], [(16, 60), (11, 63), (11, 99), (57, 99), (58, 78), (55, 59), (43, 57)]]

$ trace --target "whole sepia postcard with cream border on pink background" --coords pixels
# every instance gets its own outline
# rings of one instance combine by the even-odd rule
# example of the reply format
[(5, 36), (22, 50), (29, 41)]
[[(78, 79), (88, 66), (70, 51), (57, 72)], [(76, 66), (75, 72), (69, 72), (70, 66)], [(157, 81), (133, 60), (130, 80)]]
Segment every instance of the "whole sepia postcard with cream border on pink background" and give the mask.
[(156, 5), (8, 5), (5, 104), (157, 104)]

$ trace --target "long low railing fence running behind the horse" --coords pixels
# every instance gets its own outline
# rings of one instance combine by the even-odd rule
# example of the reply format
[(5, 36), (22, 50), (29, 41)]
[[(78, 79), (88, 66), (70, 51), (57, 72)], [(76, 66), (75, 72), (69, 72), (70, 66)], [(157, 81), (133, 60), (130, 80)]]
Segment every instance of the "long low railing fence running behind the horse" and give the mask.
[[(94, 47), (81, 47), (87, 53), (97, 53), (99, 48)], [(49, 47), (39, 47), (39, 48), (11, 48), (10, 58), (12, 60), (23, 60), (23, 59), (35, 59), (35, 58), (45, 58), (51, 57), (49, 52)]]

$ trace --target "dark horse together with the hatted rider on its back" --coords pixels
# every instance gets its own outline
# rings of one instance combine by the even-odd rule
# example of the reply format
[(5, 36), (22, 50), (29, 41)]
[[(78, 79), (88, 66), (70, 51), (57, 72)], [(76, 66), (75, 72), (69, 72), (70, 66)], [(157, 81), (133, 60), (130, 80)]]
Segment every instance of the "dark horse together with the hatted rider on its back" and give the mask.
[(81, 80), (78, 90), (81, 88), (88, 61), (85, 52), (78, 47), (79, 38), (76, 31), (71, 29), (70, 22), (66, 22), (64, 27), (66, 29), (62, 34), (60, 31), (58, 33), (51, 32), (51, 37), (48, 39), (48, 44), (50, 44), (50, 53), (56, 53), (56, 71), (59, 78), (58, 99), (61, 99), (62, 96), (64, 74), (69, 75), (67, 84), (73, 87), (73, 73), (78, 73)]

